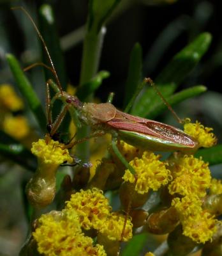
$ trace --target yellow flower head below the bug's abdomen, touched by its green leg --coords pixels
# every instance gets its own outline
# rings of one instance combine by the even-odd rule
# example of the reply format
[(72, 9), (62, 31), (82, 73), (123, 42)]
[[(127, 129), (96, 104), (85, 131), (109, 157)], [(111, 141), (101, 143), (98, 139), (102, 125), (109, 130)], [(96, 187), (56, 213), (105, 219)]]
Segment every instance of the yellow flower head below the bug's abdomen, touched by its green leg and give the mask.
[[(172, 179), (170, 171), (166, 169), (166, 164), (159, 161), (160, 157), (151, 151), (145, 151), (142, 158), (135, 157), (135, 159), (129, 162), (137, 173), (137, 183), (135, 186), (137, 193), (147, 193), (150, 188), (156, 191), (160, 186), (167, 184)], [(122, 179), (130, 183), (136, 181), (135, 175), (129, 172), (129, 170), (126, 170)]]

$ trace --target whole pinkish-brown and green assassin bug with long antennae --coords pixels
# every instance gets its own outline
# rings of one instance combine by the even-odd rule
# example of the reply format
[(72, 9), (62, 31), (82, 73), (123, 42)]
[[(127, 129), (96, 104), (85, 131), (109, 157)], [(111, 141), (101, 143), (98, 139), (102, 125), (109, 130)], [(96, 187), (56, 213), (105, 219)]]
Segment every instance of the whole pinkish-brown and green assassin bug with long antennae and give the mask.
[[(129, 115), (128, 113), (124, 113), (116, 109), (115, 106), (110, 102), (100, 104), (84, 103), (81, 102), (77, 96), (64, 92), (61, 83), (59, 82), (52, 59), (50, 58), (47, 45), (45, 44), (40, 31), (36, 27), (36, 24), (34, 24), (33, 19), (24, 8), (15, 7), (13, 9), (22, 10), (29, 17), (38, 33), (38, 36), (40, 37), (41, 42), (43, 43), (43, 47), (50, 62), (50, 67), (43, 63), (35, 63), (27, 67), (26, 70), (36, 65), (42, 65), (43, 67), (48, 68), (56, 77), (56, 84), (52, 80), (47, 82), (47, 129), (51, 138), (55, 136), (59, 125), (66, 115), (66, 112), (69, 111), (72, 116), (77, 117), (79, 125), (85, 124), (92, 128), (93, 132), (88, 138), (101, 136), (105, 133), (112, 134), (112, 146), (115, 148), (114, 151), (117, 152), (117, 154), (119, 154), (117, 147), (115, 146), (115, 141), (117, 139), (124, 140), (130, 145), (136, 145), (137, 147), (147, 148), (154, 151), (179, 150), (187, 153), (195, 152), (195, 150), (198, 148), (197, 141), (180, 129), (161, 122)], [(145, 82), (152, 84), (151, 79), (145, 79)], [(56, 95), (52, 98), (52, 100), (50, 99), (50, 86), (52, 86), (56, 92)], [(163, 99), (163, 97), (161, 98)], [(56, 121), (52, 123), (52, 106), (57, 99), (63, 101), (64, 107)], [(88, 138), (68, 143), (66, 148), (71, 148), (77, 143), (87, 140)], [(124, 159), (121, 159), (121, 161), (127, 167), (129, 167), (128, 163), (124, 161)], [(133, 170), (131, 171), (133, 172)]]

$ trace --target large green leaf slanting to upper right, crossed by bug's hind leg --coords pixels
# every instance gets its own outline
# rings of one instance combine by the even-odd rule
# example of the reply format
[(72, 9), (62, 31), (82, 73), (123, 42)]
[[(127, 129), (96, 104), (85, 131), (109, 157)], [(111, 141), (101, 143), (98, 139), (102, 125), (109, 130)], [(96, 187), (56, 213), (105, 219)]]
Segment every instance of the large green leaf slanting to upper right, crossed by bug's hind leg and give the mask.
[[(178, 52), (174, 58), (166, 65), (163, 71), (155, 79), (156, 86), (163, 94), (168, 97), (174, 93), (184, 78), (195, 68), (203, 54), (211, 44), (211, 34), (202, 33)], [(133, 115), (146, 116), (152, 107), (159, 101), (159, 96), (152, 88), (147, 88), (140, 95), (132, 109)]]

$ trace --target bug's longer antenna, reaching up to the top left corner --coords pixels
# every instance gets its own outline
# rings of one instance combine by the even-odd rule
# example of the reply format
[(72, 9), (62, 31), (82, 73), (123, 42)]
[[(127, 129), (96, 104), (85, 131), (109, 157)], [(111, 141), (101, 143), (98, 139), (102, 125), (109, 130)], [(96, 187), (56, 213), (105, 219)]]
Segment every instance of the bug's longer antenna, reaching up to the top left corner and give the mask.
[(61, 83), (59, 81), (59, 77), (57, 76), (56, 68), (54, 67), (54, 64), (52, 62), (52, 58), (50, 57), (50, 54), (48, 52), (47, 45), (45, 44), (45, 40), (43, 39), (43, 36), (41, 35), (40, 31), (38, 30), (36, 24), (34, 23), (33, 18), (29, 15), (29, 13), (26, 11), (26, 9), (24, 7), (22, 7), (22, 6), (12, 7), (11, 10), (21, 10), (22, 12), (26, 13), (26, 15), (29, 18), (29, 20), (31, 20), (31, 22), (33, 23), (34, 29), (36, 30), (36, 32), (37, 32), (37, 34), (38, 34), (38, 36), (39, 36), (39, 38), (40, 38), (40, 40), (41, 40), (41, 42), (43, 44), (45, 52), (47, 53), (47, 57), (48, 57), (48, 60), (49, 60), (49, 62), (51, 64), (51, 66), (52, 66), (52, 70), (53, 70), (52, 72), (53, 72), (54, 76), (56, 77), (56, 82), (57, 82), (57, 85), (59, 87), (59, 90), (60, 90), (61, 94), (63, 94), (63, 88), (62, 88)]

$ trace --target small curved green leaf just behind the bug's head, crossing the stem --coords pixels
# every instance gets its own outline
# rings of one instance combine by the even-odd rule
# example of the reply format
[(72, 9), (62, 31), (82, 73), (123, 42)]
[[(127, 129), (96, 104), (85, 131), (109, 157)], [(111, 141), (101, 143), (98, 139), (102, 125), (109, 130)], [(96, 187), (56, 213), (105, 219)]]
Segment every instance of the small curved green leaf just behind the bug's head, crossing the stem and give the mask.
[(85, 99), (87, 99), (91, 93), (95, 92), (100, 87), (103, 79), (106, 79), (109, 76), (110, 73), (108, 71), (100, 71), (91, 79), (91, 81), (79, 86), (76, 93), (78, 99), (85, 101)]

